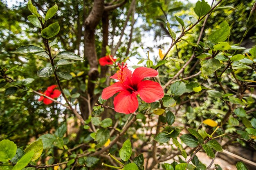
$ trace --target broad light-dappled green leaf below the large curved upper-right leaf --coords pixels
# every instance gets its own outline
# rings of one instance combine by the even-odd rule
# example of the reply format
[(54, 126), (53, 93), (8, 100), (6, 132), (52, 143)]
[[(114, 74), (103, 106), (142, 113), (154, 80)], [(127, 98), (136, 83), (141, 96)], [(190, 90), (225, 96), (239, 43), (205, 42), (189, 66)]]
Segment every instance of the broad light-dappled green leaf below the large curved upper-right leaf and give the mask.
[(220, 61), (216, 60), (215, 58), (210, 58), (209, 60), (202, 60), (200, 64), (202, 66), (201, 67), (202, 74), (205, 77), (214, 73), (221, 66)]

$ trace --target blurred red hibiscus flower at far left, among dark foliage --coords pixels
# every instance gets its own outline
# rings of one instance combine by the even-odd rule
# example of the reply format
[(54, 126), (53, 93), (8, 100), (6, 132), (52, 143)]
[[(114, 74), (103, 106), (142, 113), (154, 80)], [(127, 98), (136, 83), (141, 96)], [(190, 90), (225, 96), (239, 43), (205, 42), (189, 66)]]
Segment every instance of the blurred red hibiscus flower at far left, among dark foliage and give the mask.
[[(51, 98), (57, 98), (61, 95), (61, 91), (55, 89), (57, 85), (52, 85), (52, 86), (49, 86), (47, 88), (47, 90), (45, 91), (45, 93), (43, 93), (44, 95), (48, 96), (48, 97), (51, 97)], [(47, 99), (46, 97), (43, 97), (43, 96), (40, 96), (40, 99), (38, 101), (43, 101), (44, 104), (51, 104), (53, 101), (50, 100), (50, 99)]]

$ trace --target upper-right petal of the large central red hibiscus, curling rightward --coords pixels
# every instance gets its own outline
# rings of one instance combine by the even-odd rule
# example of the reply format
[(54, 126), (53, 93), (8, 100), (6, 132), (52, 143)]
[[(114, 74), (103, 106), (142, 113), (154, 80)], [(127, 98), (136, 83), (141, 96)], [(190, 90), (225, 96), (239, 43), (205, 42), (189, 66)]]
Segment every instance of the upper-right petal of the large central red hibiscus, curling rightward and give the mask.
[(132, 73), (132, 83), (138, 84), (146, 77), (155, 77), (157, 75), (158, 72), (153, 68), (139, 67), (136, 68), (135, 71)]

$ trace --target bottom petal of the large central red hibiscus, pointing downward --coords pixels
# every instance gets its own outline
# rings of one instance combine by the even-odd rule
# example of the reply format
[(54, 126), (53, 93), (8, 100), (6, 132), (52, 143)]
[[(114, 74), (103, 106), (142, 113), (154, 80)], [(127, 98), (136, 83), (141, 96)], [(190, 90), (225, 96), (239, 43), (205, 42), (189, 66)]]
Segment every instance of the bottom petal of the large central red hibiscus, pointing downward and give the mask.
[(121, 91), (114, 99), (115, 111), (118, 113), (133, 113), (139, 106), (136, 94), (129, 91)]

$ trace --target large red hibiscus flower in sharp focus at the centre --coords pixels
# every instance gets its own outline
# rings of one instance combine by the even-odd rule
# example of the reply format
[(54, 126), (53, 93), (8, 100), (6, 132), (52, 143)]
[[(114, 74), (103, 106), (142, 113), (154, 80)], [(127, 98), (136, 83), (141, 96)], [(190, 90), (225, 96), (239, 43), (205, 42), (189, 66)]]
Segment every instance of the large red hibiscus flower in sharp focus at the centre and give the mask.
[(164, 91), (161, 85), (150, 80), (143, 80), (146, 77), (155, 77), (158, 72), (152, 68), (139, 67), (132, 73), (127, 66), (119, 64), (120, 70), (111, 76), (119, 82), (104, 88), (102, 99), (108, 99), (115, 93), (120, 92), (114, 99), (115, 111), (119, 113), (133, 113), (138, 108), (137, 95), (147, 103), (155, 102), (164, 97)]

